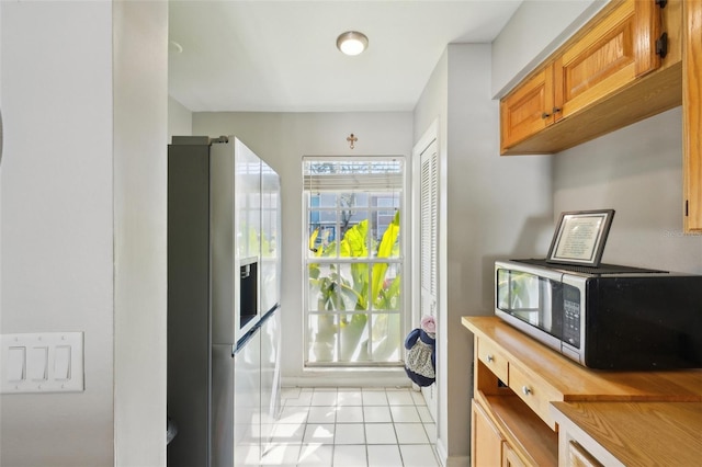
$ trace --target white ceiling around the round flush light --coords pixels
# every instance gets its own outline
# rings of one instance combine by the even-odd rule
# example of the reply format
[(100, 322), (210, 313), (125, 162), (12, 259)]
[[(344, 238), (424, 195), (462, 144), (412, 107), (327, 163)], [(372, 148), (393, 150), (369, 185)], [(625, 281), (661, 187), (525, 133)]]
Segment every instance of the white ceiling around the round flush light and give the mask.
[[(490, 43), (522, 0), (169, 3), (169, 94), (193, 112), (411, 111), (449, 43)], [(369, 36), (349, 57), (344, 31)]]

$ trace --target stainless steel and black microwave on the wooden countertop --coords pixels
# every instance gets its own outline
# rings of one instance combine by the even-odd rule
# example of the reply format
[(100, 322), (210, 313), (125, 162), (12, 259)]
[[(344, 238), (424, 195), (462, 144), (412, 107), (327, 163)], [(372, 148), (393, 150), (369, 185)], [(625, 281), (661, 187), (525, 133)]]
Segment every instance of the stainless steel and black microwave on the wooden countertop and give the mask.
[(702, 367), (702, 275), (497, 261), (495, 314), (590, 368)]

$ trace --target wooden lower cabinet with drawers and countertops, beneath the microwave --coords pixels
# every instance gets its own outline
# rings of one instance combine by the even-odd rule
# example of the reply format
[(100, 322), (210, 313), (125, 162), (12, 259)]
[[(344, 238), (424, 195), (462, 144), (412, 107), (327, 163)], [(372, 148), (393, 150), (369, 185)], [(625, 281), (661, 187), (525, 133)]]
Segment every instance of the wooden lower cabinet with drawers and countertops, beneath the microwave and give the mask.
[[(499, 318), (462, 322), (474, 334), (472, 467), (702, 458), (702, 369), (590, 371)], [(686, 448), (671, 452), (678, 442)]]

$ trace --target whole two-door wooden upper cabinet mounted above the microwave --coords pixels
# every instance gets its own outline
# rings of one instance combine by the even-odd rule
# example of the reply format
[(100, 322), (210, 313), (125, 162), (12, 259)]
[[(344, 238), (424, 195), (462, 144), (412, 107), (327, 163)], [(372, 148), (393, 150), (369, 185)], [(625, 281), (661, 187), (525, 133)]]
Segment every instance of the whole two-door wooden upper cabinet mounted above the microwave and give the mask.
[(557, 152), (680, 105), (680, 16), (679, 3), (611, 2), (502, 99), (501, 153)]

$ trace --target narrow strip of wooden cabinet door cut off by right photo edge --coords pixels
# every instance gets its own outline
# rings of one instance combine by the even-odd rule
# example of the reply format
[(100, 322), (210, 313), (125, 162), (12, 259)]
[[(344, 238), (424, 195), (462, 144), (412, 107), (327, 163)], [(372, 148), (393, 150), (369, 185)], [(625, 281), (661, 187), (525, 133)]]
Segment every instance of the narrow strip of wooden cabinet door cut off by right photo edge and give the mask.
[(682, 119), (684, 151), (686, 231), (702, 231), (702, 1), (684, 4)]

